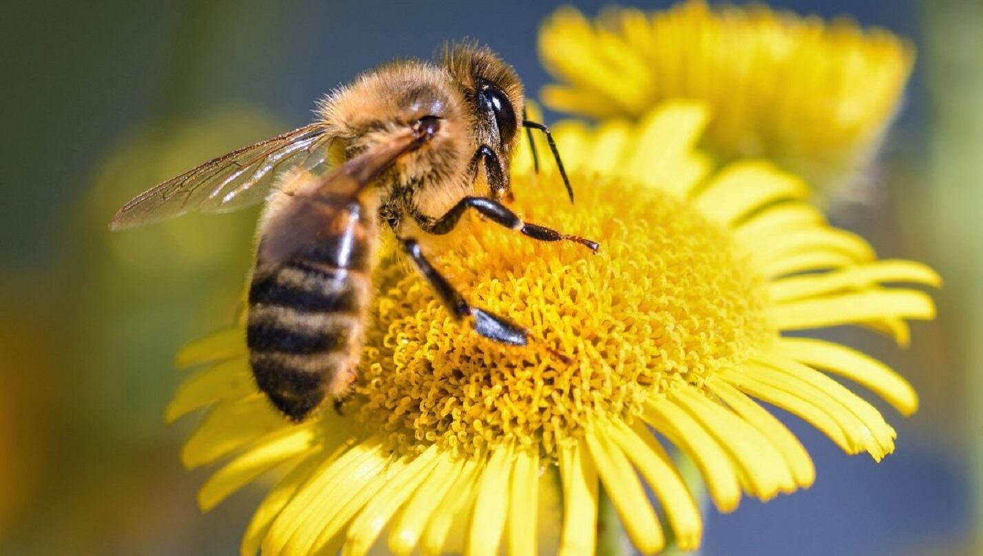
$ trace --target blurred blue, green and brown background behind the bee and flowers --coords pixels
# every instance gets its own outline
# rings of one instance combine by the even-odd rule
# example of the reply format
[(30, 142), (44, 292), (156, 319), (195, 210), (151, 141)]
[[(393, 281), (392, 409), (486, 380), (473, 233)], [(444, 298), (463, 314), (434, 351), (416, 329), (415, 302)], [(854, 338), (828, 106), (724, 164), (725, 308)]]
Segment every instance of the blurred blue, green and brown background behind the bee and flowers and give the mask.
[[(601, 2), (573, 2), (588, 15)], [(625, 2), (664, 7), (667, 2)], [(912, 346), (840, 340), (921, 395), (883, 463), (850, 458), (789, 420), (813, 455), (809, 490), (711, 513), (703, 554), (983, 553), (983, 2), (786, 0), (910, 38), (918, 61), (877, 194), (835, 219), (886, 257), (946, 279), (940, 319)], [(231, 554), (255, 488), (202, 515), (165, 426), (173, 353), (229, 322), (255, 212), (109, 234), (123, 202), (163, 178), (310, 121), (315, 100), (396, 56), (472, 36), (531, 93), (554, 6), (10, 0), (0, 18), (0, 553)], [(548, 114), (553, 120), (554, 114)]]

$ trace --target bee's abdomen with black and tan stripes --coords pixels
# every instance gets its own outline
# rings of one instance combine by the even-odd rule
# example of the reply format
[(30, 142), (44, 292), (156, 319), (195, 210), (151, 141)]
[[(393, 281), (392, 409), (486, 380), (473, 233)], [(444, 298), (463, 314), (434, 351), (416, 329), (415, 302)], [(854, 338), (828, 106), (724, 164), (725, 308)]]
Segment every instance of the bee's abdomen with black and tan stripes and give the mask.
[[(253, 376), (269, 400), (304, 419), (355, 378), (376, 240), (374, 215), (338, 211), (318, 241), (275, 267), (258, 262), (249, 294)], [(266, 268), (264, 268), (266, 267)]]

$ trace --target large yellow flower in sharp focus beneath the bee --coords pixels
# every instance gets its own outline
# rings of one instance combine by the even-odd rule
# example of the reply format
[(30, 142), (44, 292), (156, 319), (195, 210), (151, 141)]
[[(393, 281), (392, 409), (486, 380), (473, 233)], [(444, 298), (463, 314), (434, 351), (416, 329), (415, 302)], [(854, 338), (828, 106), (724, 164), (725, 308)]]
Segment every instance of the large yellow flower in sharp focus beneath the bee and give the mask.
[[(503, 346), (455, 323), (427, 283), (385, 259), (356, 396), (294, 425), (253, 385), (241, 327), (199, 340), (168, 419), (209, 406), (188, 466), (224, 464), (202, 508), (274, 467), (243, 554), (533, 554), (541, 491), (562, 492), (560, 553), (593, 554), (600, 485), (634, 545), (698, 547), (700, 511), (664, 439), (699, 467), (716, 506), (767, 500), (813, 482), (795, 437), (758, 401), (812, 423), (846, 453), (880, 460), (895, 431), (831, 378), (867, 387), (901, 413), (910, 386), (883, 363), (786, 331), (859, 325), (907, 339), (933, 316), (928, 268), (878, 261), (859, 237), (802, 201), (794, 176), (760, 160), (708, 170), (693, 150), (707, 112), (672, 103), (637, 126), (556, 128), (576, 206), (554, 172), (516, 161), (517, 208), (531, 221), (602, 242), (532, 241), (473, 218), (437, 267), (477, 306), (529, 327)], [(654, 434), (658, 433), (661, 438)], [(636, 473), (637, 471), (637, 473)], [(455, 531), (462, 539), (453, 540)]]

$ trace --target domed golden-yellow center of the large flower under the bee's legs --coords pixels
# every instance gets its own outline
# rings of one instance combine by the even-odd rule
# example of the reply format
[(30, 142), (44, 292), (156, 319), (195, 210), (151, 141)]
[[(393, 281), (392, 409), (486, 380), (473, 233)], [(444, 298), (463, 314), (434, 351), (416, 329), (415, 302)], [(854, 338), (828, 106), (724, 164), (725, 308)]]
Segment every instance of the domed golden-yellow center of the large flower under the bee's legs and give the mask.
[(469, 303), (526, 327), (527, 346), (479, 337), (423, 278), (380, 266), (353, 401), (367, 426), (403, 449), (517, 442), (551, 457), (596, 419), (631, 418), (774, 334), (764, 280), (723, 228), (663, 192), (599, 179), (579, 176), (574, 206), (552, 179), (514, 179), (525, 219), (598, 240), (597, 255), (474, 217), (434, 257)]

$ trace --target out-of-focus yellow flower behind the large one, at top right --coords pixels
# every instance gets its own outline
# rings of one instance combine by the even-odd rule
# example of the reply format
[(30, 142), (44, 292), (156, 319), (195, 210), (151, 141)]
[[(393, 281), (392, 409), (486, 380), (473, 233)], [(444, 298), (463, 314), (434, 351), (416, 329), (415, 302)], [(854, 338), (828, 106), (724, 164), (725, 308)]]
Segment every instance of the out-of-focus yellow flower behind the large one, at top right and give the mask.
[(638, 118), (666, 99), (698, 99), (713, 112), (711, 152), (771, 158), (826, 193), (876, 153), (913, 62), (888, 31), (702, 0), (609, 9), (596, 22), (560, 8), (540, 54), (561, 82), (543, 90), (551, 108)]

